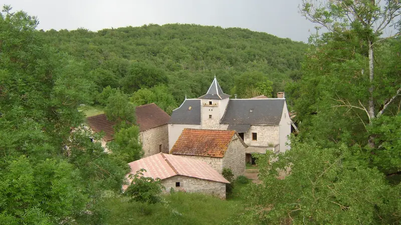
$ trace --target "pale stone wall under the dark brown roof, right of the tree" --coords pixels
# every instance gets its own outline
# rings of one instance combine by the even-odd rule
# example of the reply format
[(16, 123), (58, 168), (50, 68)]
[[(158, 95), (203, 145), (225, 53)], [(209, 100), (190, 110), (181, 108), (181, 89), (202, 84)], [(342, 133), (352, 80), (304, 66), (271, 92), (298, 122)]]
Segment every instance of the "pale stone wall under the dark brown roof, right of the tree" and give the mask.
[(168, 153), (168, 126), (167, 124), (157, 126), (139, 132), (139, 140), (142, 142), (143, 157), (160, 152)]

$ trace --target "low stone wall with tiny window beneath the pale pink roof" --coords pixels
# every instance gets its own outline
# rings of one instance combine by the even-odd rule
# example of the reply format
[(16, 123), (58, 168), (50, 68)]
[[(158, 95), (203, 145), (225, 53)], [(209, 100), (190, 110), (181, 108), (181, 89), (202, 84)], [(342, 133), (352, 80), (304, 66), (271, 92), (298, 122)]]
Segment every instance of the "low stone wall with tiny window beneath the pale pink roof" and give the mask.
[[(175, 182), (179, 182), (179, 187), (175, 186)], [(166, 188), (165, 192), (167, 193), (170, 188), (173, 188), (176, 191), (200, 192), (215, 195), (222, 199), (226, 198), (226, 183), (181, 175), (168, 177), (161, 180), (161, 183)]]

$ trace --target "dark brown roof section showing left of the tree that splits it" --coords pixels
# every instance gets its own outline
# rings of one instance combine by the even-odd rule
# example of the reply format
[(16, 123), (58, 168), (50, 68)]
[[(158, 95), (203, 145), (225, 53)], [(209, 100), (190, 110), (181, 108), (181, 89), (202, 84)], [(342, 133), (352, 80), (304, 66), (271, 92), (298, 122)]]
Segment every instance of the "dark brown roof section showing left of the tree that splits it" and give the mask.
[(89, 116), (86, 118), (86, 121), (94, 132), (104, 131), (106, 133), (106, 135), (103, 137), (105, 141), (113, 139), (113, 126), (116, 124), (116, 122), (108, 120), (106, 114)]

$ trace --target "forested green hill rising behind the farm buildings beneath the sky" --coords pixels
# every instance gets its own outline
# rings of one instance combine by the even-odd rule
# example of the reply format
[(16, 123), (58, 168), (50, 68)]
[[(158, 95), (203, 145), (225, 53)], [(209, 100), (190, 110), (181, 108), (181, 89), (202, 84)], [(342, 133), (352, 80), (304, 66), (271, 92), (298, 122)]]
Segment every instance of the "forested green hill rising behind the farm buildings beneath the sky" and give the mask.
[[(286, 83), (299, 78), (307, 47), (302, 42), (248, 29), (191, 24), (41, 33), (47, 42), (86, 63), (85, 70), (99, 92), (108, 85), (128, 94), (165, 85), (167, 88), (160, 87), (161, 92), (173, 96), (174, 101), (168, 103), (172, 106), (185, 94), (204, 94), (214, 75), (223, 90), (231, 94), (246, 95), (235, 88), (246, 81), (243, 74), (252, 77), (253, 82), (242, 85), (255, 87), (252, 85), (260, 81), (267, 87), (259, 88), (259, 92), (272, 95), (283, 91)], [(150, 91), (157, 92), (155, 89)]]

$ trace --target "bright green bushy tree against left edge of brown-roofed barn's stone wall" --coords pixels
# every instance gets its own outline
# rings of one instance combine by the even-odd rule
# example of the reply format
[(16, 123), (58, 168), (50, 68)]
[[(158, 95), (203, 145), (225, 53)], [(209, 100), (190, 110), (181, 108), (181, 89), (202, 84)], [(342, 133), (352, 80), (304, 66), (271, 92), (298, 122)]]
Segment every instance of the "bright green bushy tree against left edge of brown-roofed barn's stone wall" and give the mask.
[(108, 142), (107, 145), (113, 155), (126, 163), (138, 160), (143, 156), (138, 126), (121, 127), (114, 134), (113, 141)]

